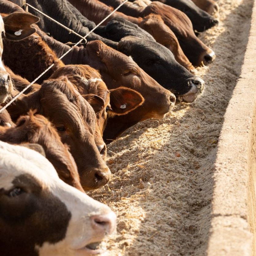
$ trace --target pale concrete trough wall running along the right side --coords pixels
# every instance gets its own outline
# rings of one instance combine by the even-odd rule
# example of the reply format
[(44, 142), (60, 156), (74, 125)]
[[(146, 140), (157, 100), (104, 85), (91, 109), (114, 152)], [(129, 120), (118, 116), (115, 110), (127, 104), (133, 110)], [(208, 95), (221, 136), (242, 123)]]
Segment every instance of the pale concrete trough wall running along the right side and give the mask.
[(256, 1), (244, 63), (218, 143), (209, 256), (256, 255), (255, 100)]

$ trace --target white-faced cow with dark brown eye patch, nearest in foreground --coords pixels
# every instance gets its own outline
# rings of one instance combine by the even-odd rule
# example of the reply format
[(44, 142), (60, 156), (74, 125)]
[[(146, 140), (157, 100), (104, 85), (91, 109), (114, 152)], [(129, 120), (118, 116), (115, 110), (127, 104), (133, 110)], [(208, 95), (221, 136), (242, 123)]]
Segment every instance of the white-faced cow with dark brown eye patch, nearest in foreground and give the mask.
[(5, 256), (100, 254), (111, 209), (67, 185), (38, 152), (0, 141), (0, 250)]

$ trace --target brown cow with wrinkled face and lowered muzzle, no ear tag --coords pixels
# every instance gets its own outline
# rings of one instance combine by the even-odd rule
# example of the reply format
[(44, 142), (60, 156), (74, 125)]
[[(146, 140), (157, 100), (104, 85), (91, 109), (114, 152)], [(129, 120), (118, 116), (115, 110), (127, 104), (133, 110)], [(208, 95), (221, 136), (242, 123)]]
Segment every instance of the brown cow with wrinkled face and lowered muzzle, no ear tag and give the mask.
[(30, 109), (51, 120), (62, 143), (70, 147), (85, 190), (108, 182), (111, 173), (95, 144), (94, 110), (66, 77), (45, 81), (40, 90), (21, 96), (7, 108), (13, 120)]

